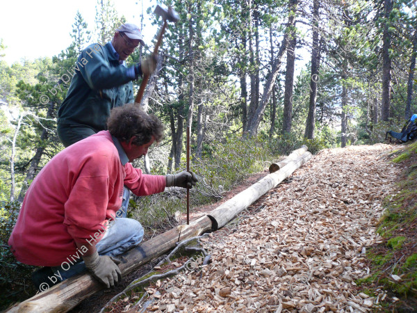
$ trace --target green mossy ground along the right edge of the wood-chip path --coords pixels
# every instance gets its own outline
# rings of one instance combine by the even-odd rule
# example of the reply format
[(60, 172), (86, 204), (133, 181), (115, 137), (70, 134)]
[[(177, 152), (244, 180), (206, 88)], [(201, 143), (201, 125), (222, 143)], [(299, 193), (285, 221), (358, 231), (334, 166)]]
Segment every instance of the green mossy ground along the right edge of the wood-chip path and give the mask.
[(393, 163), (401, 164), (404, 170), (384, 201), (386, 213), (377, 228), (383, 242), (367, 253), (371, 273), (357, 284), (367, 294), (382, 287), (391, 297), (400, 299), (383, 303), (383, 310), (417, 312), (417, 142), (396, 155), (391, 154)]

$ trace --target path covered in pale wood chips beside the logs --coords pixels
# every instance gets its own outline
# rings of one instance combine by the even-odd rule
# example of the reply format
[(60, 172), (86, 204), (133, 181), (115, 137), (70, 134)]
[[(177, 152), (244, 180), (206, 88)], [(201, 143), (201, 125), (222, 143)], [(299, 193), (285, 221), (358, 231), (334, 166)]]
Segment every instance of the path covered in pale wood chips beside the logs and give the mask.
[[(382, 200), (400, 168), (392, 145), (322, 150), (252, 205), (255, 214), (206, 236), (211, 263), (147, 288), (157, 312), (369, 312), (366, 249), (379, 241)], [(156, 292), (158, 291), (158, 292)]]

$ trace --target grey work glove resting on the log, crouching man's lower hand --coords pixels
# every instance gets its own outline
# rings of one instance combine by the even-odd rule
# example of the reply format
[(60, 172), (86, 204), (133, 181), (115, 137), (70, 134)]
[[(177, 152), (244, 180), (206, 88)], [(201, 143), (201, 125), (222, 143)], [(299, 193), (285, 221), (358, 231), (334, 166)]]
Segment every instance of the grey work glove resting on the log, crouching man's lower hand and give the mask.
[(117, 266), (120, 263), (118, 259), (109, 257), (108, 255), (100, 256), (96, 251), (88, 257), (83, 256), (83, 260), (88, 271), (99, 282), (105, 284), (107, 288), (114, 287), (115, 282), (117, 283), (122, 279), (122, 272), (119, 266)]

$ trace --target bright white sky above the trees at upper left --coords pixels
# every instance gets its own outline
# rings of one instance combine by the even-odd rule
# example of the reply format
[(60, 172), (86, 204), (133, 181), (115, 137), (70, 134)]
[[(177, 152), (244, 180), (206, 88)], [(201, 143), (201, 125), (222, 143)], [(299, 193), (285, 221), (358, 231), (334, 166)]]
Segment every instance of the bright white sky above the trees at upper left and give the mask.
[[(127, 22), (140, 26), (141, 0), (117, 0), (116, 9)], [(7, 48), (3, 60), (9, 65), (22, 58), (34, 60), (55, 56), (70, 46), (72, 24), (79, 10), (90, 31), (95, 26), (97, 0), (9, 0), (2, 1), (0, 10), (0, 38)], [(143, 0), (144, 23), (149, 21), (147, 8), (156, 6), (156, 0)], [(148, 22), (149, 24), (149, 22)], [(155, 27), (144, 27), (145, 42), (157, 33)], [(150, 31), (149, 31), (150, 30)]]

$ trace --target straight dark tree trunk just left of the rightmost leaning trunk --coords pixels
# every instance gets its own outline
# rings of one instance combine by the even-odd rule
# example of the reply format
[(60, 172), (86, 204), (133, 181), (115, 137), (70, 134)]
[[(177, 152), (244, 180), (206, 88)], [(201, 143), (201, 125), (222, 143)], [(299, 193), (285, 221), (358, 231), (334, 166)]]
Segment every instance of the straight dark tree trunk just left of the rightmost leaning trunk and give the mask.
[(389, 55), (389, 49), (391, 49), (391, 32), (389, 15), (393, 10), (392, 0), (384, 0), (384, 33), (382, 35), (382, 107), (381, 107), (381, 119), (387, 122), (389, 119), (389, 102), (391, 97), (391, 56)]

